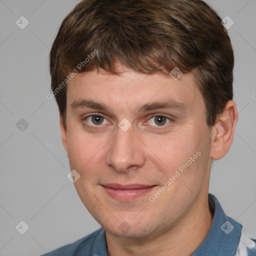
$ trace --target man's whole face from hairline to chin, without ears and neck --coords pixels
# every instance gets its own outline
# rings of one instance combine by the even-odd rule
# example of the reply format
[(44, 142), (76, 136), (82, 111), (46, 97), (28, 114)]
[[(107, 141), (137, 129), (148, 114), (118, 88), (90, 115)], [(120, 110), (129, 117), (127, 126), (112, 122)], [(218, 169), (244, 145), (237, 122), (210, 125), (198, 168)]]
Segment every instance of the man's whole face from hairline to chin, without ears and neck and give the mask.
[(74, 185), (113, 235), (166, 231), (198, 206), (208, 192), (211, 136), (192, 74), (94, 70), (67, 85), (62, 140), (80, 175)]

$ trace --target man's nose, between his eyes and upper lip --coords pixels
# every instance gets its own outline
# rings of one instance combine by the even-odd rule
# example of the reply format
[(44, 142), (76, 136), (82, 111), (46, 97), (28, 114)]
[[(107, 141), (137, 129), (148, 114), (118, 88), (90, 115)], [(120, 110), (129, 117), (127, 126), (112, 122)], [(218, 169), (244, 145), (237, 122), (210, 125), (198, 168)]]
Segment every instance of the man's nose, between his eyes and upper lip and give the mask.
[(126, 131), (116, 127), (116, 133), (108, 144), (105, 161), (119, 172), (128, 172), (144, 165), (144, 144), (135, 135), (132, 126)]

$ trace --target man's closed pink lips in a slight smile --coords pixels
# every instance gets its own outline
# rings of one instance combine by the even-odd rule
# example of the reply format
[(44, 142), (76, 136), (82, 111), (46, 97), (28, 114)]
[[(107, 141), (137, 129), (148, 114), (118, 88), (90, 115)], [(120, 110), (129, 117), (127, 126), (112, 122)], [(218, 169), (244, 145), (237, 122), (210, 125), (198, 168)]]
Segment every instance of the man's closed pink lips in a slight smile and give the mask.
[(156, 185), (107, 183), (101, 186), (110, 197), (131, 201), (150, 192)]

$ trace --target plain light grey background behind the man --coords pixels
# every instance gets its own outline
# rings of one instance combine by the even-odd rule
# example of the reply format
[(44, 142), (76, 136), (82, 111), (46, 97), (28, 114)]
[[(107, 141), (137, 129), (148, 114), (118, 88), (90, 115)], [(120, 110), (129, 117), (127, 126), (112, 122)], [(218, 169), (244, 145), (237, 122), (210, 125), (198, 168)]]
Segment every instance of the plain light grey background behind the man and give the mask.
[[(58, 111), (48, 100), (48, 53), (78, 0), (0, 0), (0, 255), (39, 255), (97, 229), (81, 203), (61, 144)], [(235, 52), (239, 112), (229, 152), (212, 166), (209, 191), (226, 214), (256, 238), (256, 0), (208, 0), (228, 29)], [(20, 29), (15, 21), (25, 16)], [(254, 94), (255, 95), (255, 94)], [(256, 98), (256, 96), (254, 97)], [(21, 131), (16, 123), (25, 119)], [(22, 121), (21, 121), (22, 122)], [(21, 235), (15, 226), (25, 221)]]

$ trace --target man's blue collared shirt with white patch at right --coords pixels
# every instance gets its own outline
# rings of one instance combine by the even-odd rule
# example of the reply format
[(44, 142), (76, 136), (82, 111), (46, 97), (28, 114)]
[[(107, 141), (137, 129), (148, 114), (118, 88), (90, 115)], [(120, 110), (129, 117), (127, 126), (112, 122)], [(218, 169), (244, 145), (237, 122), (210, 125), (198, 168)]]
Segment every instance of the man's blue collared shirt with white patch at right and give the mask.
[[(210, 230), (191, 256), (256, 256), (256, 240), (246, 237), (242, 225), (225, 215), (217, 198), (209, 194), (213, 213)], [(42, 256), (108, 256), (105, 231), (93, 233)]]

